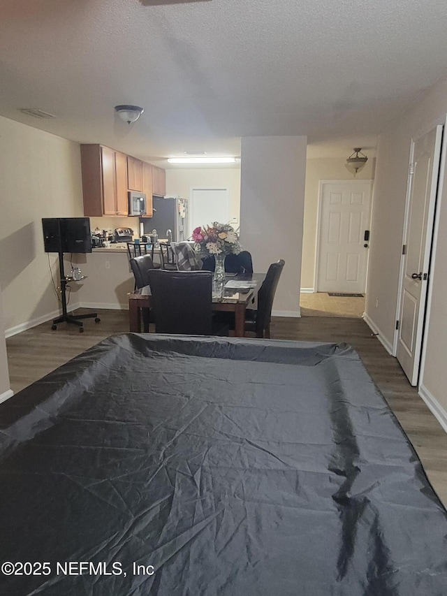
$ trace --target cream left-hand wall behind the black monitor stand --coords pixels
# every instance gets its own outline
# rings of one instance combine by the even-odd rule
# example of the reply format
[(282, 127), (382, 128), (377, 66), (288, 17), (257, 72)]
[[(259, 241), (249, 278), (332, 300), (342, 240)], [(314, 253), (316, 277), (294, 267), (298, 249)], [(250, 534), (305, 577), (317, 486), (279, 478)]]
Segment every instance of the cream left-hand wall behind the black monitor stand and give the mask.
[[(5, 328), (58, 308), (42, 217), (80, 217), (80, 146), (0, 117), (0, 283)], [(57, 255), (50, 255), (54, 275)]]

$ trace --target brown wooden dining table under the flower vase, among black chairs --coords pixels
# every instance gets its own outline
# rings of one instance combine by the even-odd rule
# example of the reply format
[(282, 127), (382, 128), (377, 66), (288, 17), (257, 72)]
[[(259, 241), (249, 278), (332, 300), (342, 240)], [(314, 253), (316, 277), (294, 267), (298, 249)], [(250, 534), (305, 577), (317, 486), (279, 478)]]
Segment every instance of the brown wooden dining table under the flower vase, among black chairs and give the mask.
[[(226, 275), (223, 282), (213, 281), (212, 310), (234, 312), (235, 337), (244, 337), (245, 311), (256, 303), (256, 296), (265, 279), (265, 273)], [(152, 307), (150, 286), (129, 293), (129, 330), (141, 333), (141, 310)]]

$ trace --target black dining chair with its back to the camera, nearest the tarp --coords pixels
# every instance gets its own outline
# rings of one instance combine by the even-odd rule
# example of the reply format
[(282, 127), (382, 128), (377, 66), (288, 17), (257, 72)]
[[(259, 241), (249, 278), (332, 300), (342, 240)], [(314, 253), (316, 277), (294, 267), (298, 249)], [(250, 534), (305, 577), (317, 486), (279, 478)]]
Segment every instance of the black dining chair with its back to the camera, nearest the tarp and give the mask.
[(212, 273), (149, 270), (156, 333), (228, 335), (228, 325), (214, 324)]

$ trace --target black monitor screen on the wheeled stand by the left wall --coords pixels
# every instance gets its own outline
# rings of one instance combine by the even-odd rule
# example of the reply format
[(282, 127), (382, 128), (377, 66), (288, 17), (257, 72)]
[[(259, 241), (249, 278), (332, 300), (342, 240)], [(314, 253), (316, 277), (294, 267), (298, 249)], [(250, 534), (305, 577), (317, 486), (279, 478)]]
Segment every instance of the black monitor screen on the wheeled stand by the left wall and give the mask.
[(45, 252), (91, 252), (88, 217), (45, 217), (42, 227)]

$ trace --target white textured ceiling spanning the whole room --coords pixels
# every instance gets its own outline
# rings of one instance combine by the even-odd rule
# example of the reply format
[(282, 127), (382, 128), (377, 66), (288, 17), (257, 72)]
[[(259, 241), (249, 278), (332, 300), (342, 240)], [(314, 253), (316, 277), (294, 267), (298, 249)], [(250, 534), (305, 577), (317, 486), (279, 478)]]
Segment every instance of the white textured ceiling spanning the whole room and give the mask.
[[(0, 115), (161, 161), (307, 135), (374, 149), (447, 67), (445, 0), (2, 0)], [(145, 108), (128, 126), (113, 110)], [(56, 119), (34, 119), (40, 108)], [(164, 163), (163, 163), (164, 165)]]

